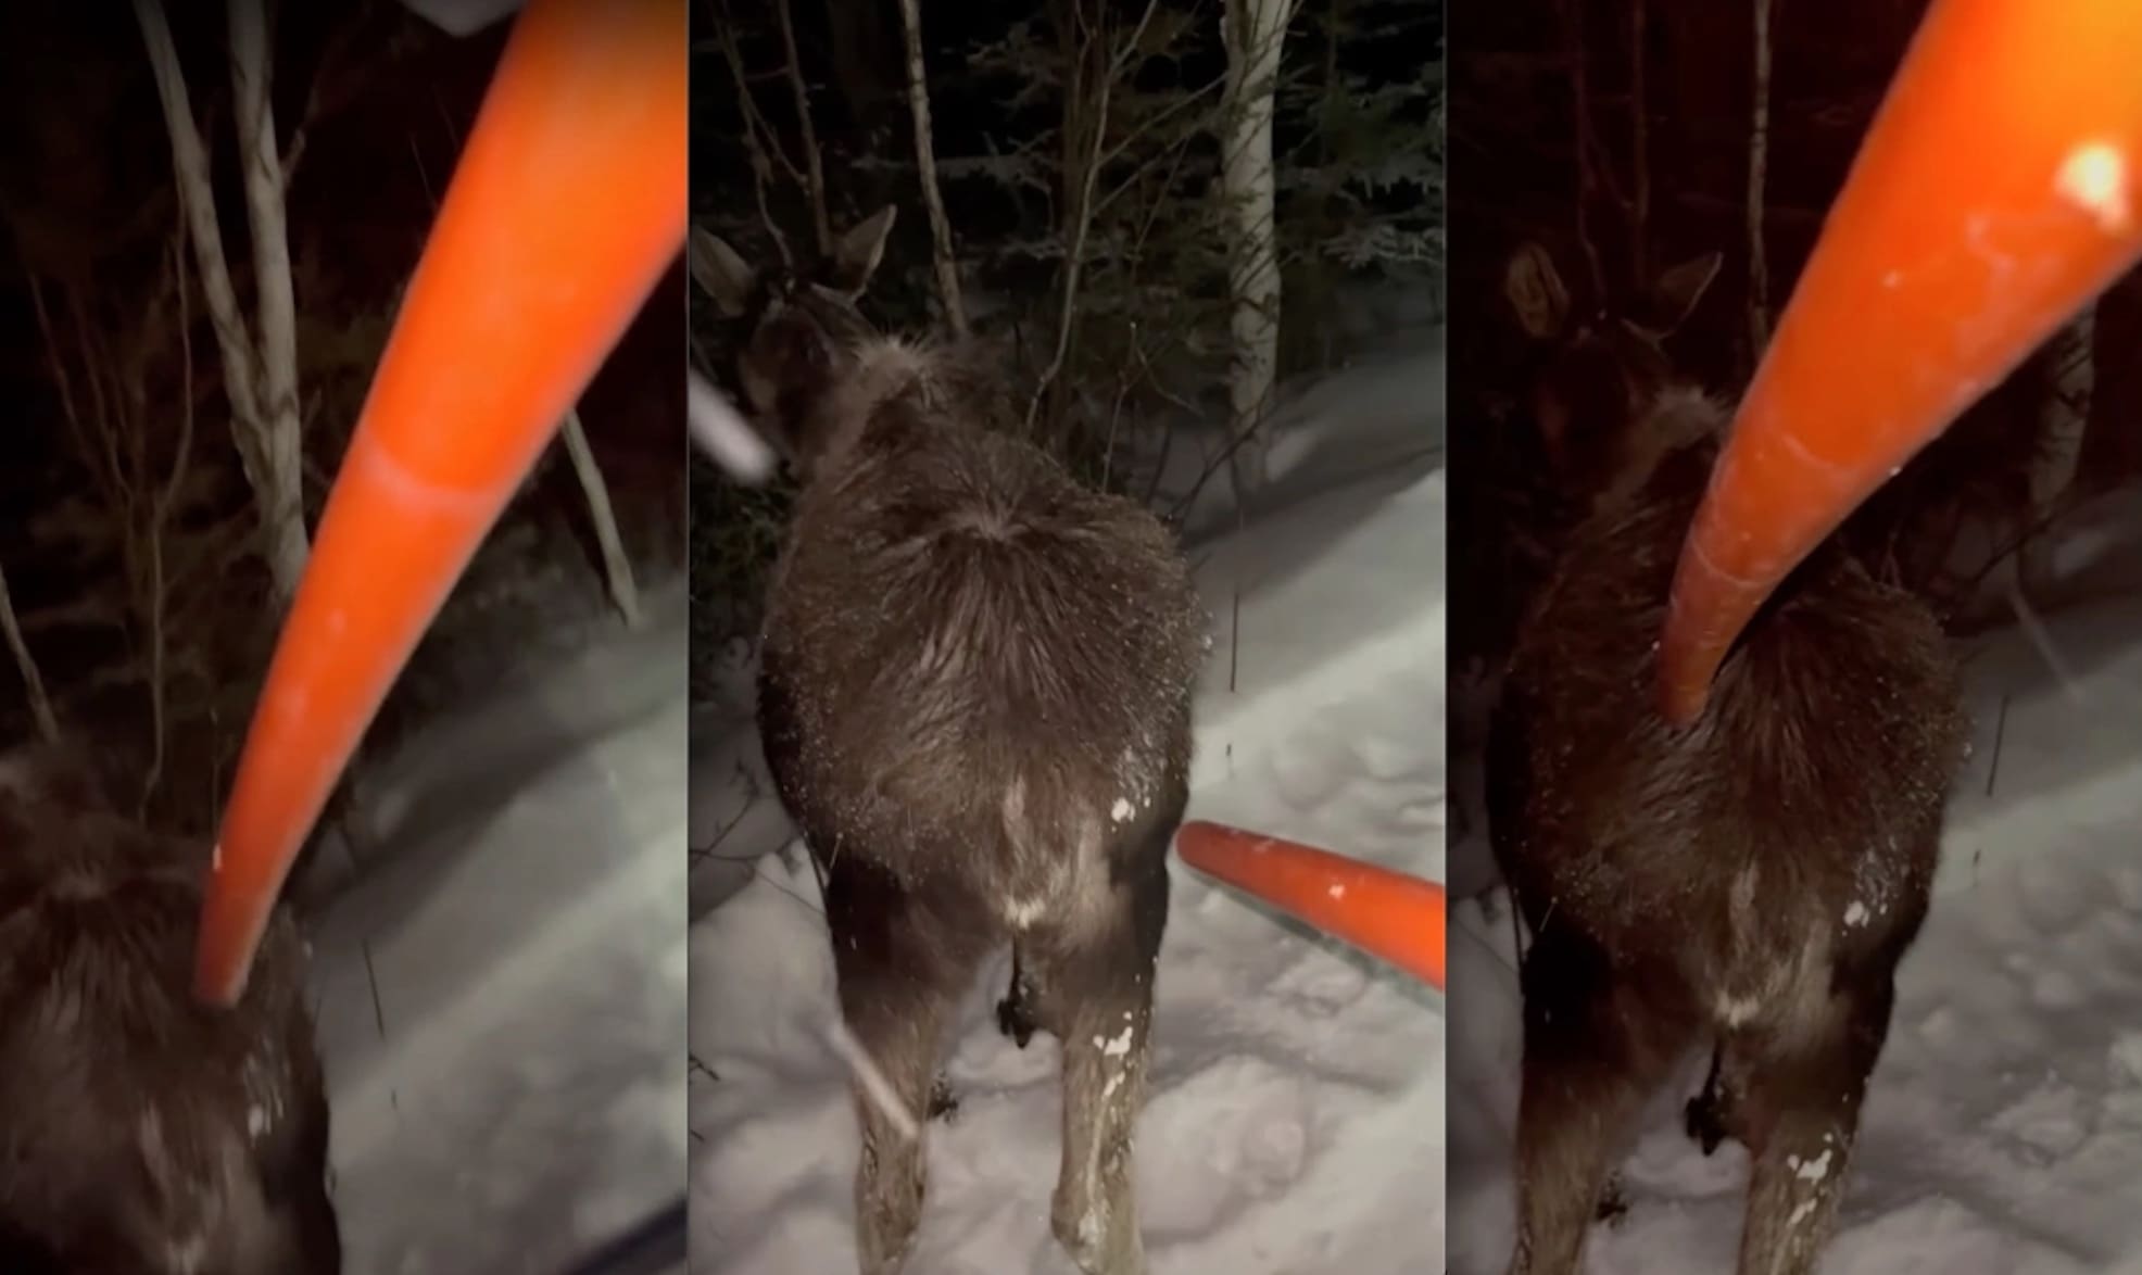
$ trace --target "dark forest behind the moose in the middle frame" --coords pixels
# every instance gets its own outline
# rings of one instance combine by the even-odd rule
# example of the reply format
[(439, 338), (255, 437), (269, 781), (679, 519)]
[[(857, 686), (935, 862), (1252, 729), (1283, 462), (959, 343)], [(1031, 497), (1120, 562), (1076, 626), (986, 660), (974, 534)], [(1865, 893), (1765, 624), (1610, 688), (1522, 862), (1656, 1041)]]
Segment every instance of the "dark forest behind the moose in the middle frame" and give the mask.
[[(1197, 478), (1230, 463), (1212, 446), (1230, 420), (1221, 0), (917, 13), (972, 330), (1039, 399), (1035, 441), (1180, 516), (1189, 501), (1165, 476), (1191, 452)], [(895, 204), (863, 309), (885, 330), (942, 328), (900, 0), (696, 0), (692, 21), (694, 223), (767, 266), (775, 234), (808, 261), (820, 225), (840, 234)], [(1272, 146), (1281, 381), (1345, 364), (1399, 315), (1439, 315), (1442, 28), (1442, 0), (1292, 6)], [(694, 289), (692, 358), (718, 384), (737, 336)], [(694, 461), (698, 694), (718, 654), (750, 641), (786, 499)]]

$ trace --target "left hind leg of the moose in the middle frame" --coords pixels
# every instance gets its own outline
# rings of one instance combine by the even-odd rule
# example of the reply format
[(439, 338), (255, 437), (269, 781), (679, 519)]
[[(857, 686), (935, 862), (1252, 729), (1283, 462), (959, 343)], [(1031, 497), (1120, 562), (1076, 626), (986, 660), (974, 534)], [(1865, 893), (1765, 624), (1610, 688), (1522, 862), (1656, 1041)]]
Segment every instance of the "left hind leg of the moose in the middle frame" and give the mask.
[(990, 930), (955, 900), (915, 891), (853, 849), (827, 864), (825, 919), (842, 1020), (889, 1089), (857, 1069), (855, 1241), (863, 1275), (895, 1275), (921, 1221), (923, 1127), (945, 1029), (990, 949)]

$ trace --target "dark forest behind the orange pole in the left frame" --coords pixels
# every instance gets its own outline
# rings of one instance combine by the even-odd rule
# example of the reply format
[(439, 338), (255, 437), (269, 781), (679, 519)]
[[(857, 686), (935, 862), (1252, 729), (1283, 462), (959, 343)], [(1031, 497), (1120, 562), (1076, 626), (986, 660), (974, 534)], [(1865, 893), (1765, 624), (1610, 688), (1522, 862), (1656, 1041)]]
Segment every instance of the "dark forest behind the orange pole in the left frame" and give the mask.
[[(386, 0), (272, 11), (308, 529), (508, 28), (450, 39)], [(122, 4), (0, 6), (0, 384), (13, 418), (0, 463), (13, 651), (0, 660), (0, 737), (41, 731), (34, 677), (51, 726), (94, 741), (150, 823), (206, 831), (266, 671), (278, 591), (135, 17)], [(229, 287), (259, 343), (263, 279), (225, 6), (169, 4), (167, 19)], [(681, 319), (679, 266), (578, 405), (640, 589), (683, 557)], [(553, 446), (366, 754), (623, 624), (632, 596), (621, 598), (580, 480)]]

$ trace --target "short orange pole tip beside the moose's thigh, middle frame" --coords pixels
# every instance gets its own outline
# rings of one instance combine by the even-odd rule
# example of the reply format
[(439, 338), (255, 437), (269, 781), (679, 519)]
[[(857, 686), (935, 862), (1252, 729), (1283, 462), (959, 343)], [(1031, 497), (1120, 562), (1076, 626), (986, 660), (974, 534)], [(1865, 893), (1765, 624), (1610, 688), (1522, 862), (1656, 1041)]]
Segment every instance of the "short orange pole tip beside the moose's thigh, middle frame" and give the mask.
[(1202, 819), (1176, 831), (1176, 853), (1191, 868), (1442, 990), (1448, 926), (1442, 885)]

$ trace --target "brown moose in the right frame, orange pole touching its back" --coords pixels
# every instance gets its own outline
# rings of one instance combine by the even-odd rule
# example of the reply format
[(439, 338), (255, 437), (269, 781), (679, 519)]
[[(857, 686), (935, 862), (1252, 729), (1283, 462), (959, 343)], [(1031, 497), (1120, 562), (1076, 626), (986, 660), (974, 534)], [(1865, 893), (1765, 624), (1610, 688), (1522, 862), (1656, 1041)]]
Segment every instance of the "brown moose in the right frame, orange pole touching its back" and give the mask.
[(1831, 542), (1750, 624), (1705, 716), (1666, 726), (1658, 634), (1726, 414), (1662, 364), (1617, 371), (1634, 420), (1611, 396), (1564, 405), (1617, 424), (1596, 435), (1609, 467), (1489, 729), (1491, 842), (1532, 930), (1510, 1271), (1574, 1275), (1643, 1101), (1709, 1046), (1688, 1127), (1752, 1153), (1737, 1269), (1808, 1275), (1926, 917), (1960, 673), (1934, 615)]

